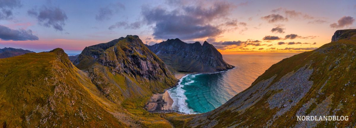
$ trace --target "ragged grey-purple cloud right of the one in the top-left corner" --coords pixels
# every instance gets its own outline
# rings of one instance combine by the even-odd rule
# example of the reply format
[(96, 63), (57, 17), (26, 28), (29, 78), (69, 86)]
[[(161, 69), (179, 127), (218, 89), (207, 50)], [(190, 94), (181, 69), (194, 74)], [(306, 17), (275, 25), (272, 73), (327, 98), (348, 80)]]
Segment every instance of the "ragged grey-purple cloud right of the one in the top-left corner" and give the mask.
[(27, 14), (36, 17), (38, 23), (45, 27), (53, 27), (56, 30), (63, 31), (64, 22), (68, 19), (66, 13), (59, 7), (46, 7), (41, 9), (31, 9)]

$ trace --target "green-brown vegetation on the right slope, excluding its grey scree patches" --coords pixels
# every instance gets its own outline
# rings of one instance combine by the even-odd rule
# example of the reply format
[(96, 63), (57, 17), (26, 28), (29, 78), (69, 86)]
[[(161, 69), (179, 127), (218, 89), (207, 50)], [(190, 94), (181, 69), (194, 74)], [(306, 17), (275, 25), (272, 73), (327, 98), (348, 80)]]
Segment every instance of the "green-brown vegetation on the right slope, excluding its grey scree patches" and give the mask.
[[(305, 115), (310, 114), (310, 116), (314, 116), (316, 113), (326, 113), (325, 116), (349, 116), (349, 121), (321, 121), (319, 124), (313, 124), (311, 121), (305, 123), (303, 127), (354, 127), (356, 122), (354, 115), (356, 112), (356, 76), (354, 73), (356, 72), (356, 36), (355, 30), (345, 32), (342, 33), (342, 35), (347, 35), (344, 38), (339, 38), (339, 40), (325, 44), (316, 50), (294, 55), (272, 65), (252, 83), (251, 87), (216, 110), (199, 115), (169, 117), (168, 119), (175, 127), (181, 128), (266, 127), (267, 125), (268, 127), (299, 127), (301, 122), (297, 121), (296, 115), (297, 112), (304, 111)], [(306, 65), (307, 67), (305, 67)], [(309, 78), (313, 82), (312, 87), (287, 112), (274, 117), (283, 106), (271, 109), (267, 101), (278, 91), (269, 90), (269, 88), (279, 82), (282, 77), (293, 74), (300, 68), (313, 69)], [(255, 89), (254, 86), (261, 86), (260, 83), (263, 80), (273, 77), (274, 79), (267, 85), (266, 90), (256, 90), (258, 92), (266, 91), (265, 95), (261, 95), (260, 99), (247, 109), (235, 111), (240, 106), (235, 105), (234, 102), (243, 98), (241, 96), (245, 95), (244, 93)], [(293, 82), (298, 79), (290, 80)], [(293, 102), (293, 100), (288, 100), (288, 102)], [(307, 105), (308, 102), (310, 102), (310, 106)], [(303, 106), (307, 107), (303, 108)]]

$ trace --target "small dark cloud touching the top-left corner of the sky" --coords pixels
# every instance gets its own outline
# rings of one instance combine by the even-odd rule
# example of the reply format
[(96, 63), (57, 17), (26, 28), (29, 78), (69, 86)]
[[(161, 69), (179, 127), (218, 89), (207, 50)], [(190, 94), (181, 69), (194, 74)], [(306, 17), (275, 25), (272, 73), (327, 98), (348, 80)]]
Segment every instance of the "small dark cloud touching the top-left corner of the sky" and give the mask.
[(21, 7), (20, 0), (0, 0), (0, 20), (12, 19), (12, 10), (16, 7)]

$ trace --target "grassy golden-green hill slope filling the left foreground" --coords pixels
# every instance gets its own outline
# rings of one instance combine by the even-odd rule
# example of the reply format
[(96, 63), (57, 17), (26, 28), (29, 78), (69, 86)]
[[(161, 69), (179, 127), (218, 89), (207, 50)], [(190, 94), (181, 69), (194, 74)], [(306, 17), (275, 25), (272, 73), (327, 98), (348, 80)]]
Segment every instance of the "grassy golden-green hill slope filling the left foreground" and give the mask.
[(62, 49), (0, 59), (0, 67), (4, 128), (130, 127)]

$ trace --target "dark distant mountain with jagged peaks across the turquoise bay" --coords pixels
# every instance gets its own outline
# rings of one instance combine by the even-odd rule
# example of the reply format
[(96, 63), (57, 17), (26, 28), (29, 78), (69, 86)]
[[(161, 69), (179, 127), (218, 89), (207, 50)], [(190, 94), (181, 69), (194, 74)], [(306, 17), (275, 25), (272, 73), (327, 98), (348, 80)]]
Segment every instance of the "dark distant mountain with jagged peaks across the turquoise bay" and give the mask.
[(171, 71), (211, 73), (234, 68), (206, 41), (203, 45), (199, 42), (189, 44), (176, 38), (147, 47), (163, 60)]

